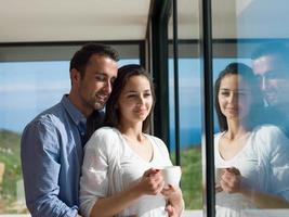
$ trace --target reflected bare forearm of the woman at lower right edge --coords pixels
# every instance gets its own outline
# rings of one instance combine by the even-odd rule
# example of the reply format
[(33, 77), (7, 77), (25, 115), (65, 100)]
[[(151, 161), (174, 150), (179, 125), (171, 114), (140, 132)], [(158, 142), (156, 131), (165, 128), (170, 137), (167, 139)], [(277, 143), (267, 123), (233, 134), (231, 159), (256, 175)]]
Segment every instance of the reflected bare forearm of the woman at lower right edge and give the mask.
[(289, 202), (277, 195), (253, 190), (244, 190), (241, 193), (251, 200), (259, 208), (289, 208)]

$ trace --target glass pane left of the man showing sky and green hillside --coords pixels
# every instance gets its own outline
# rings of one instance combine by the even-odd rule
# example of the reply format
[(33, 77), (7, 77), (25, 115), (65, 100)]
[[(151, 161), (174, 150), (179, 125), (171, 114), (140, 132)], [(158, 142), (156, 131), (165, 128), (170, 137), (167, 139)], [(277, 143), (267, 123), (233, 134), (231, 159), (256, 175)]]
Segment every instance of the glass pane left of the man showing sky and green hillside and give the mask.
[(26, 213), (19, 140), (25, 125), (69, 90), (68, 62), (0, 63), (0, 213)]

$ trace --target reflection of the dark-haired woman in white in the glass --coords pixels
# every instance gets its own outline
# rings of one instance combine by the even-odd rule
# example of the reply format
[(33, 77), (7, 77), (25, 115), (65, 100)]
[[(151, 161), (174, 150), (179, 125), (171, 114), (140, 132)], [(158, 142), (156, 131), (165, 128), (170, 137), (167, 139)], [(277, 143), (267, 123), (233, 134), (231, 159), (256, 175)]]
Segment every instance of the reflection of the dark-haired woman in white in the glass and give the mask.
[[(261, 124), (262, 95), (250, 67), (226, 66), (215, 81), (216, 216), (244, 208), (289, 208), (289, 142), (279, 128)], [(261, 113), (262, 114), (262, 113)]]

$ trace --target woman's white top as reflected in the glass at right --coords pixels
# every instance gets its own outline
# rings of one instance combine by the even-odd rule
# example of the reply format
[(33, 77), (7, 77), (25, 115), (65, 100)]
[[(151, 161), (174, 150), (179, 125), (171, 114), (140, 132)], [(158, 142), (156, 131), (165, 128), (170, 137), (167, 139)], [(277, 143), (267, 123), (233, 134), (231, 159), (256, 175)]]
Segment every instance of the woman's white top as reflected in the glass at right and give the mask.
[[(289, 201), (289, 141), (279, 128), (272, 125), (254, 128), (242, 150), (227, 161), (219, 151), (222, 135), (214, 137), (215, 168), (236, 167), (242, 184)], [(218, 217), (237, 217), (241, 209), (257, 208), (239, 193), (216, 193), (215, 205)]]

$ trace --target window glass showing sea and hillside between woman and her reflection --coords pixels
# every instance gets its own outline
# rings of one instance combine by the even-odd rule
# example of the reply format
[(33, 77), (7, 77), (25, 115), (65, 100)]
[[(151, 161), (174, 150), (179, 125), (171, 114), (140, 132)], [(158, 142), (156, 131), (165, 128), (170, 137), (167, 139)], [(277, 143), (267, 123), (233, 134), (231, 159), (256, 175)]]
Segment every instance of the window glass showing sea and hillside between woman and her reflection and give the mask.
[[(175, 155), (174, 88), (172, 60), (170, 74), (170, 149)], [(201, 115), (199, 60), (180, 59), (180, 148), (183, 171), (182, 190), (187, 209), (200, 209), (201, 196)]]

